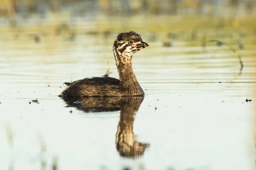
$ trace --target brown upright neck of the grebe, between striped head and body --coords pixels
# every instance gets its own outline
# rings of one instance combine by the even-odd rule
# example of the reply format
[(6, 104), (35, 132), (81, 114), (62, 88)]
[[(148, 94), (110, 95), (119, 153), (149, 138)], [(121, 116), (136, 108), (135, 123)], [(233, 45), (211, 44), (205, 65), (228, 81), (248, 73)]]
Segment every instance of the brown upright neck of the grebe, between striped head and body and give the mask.
[(113, 53), (115, 56), (116, 67), (119, 74), (120, 87), (128, 90), (129, 93), (134, 95), (144, 94), (132, 69), (132, 55), (123, 55), (115, 48), (113, 50)]

